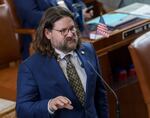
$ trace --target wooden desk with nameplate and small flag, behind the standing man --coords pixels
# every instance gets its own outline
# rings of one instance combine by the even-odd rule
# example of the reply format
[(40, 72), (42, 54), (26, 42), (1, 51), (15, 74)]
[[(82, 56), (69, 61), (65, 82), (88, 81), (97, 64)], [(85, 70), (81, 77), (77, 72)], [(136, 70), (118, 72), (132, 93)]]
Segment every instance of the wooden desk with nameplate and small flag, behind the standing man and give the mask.
[[(136, 34), (129, 35), (128, 37), (123, 39), (123, 33), (127, 32), (130, 29), (137, 29), (140, 26), (143, 26), (144, 24), (147, 25), (146, 30), (140, 31)], [(110, 76), (111, 76), (111, 69), (110, 63), (109, 63), (109, 53), (112, 53), (113, 51), (116, 51), (122, 47), (126, 47), (137, 37), (144, 34), (145, 32), (150, 30), (150, 20), (135, 20), (132, 22), (129, 22), (125, 25), (122, 25), (118, 27), (116, 30), (112, 31), (109, 38), (103, 38), (100, 40), (92, 40), (88, 38), (83, 38), (84, 41), (92, 42), (98, 57), (100, 57), (100, 63), (102, 65), (102, 73), (103, 77), (107, 82), (110, 82)]]

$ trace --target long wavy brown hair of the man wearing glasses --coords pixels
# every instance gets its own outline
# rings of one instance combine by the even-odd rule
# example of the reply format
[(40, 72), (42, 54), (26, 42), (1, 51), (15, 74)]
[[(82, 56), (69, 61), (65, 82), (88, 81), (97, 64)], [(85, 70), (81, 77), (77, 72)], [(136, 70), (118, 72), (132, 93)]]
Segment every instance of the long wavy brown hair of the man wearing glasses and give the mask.
[[(54, 23), (66, 16), (70, 17), (75, 22), (73, 14), (66, 8), (55, 6), (50, 7), (45, 11), (37, 28), (35, 40), (33, 41), (33, 48), (36, 52), (38, 51), (42, 55), (47, 54), (49, 56), (54, 53), (51, 42), (46, 38), (44, 30), (45, 28), (47, 28), (49, 31), (51, 31), (54, 27)], [(77, 34), (79, 36), (79, 30), (77, 31)], [(77, 48), (79, 47), (79, 45), (80, 40), (78, 41)]]

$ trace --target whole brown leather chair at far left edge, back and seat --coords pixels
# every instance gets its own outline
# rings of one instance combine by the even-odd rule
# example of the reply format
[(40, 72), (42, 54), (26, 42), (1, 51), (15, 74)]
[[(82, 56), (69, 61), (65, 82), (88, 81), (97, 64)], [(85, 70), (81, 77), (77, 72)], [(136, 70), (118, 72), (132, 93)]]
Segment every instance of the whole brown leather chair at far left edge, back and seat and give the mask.
[(21, 54), (10, 19), (7, 5), (0, 4), (0, 97), (15, 100)]

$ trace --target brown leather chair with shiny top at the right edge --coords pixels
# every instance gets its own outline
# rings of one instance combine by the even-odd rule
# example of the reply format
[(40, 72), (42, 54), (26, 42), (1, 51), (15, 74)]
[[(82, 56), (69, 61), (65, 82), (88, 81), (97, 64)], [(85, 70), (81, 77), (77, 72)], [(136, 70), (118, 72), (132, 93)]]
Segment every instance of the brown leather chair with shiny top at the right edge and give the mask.
[(150, 118), (150, 32), (137, 38), (128, 49)]

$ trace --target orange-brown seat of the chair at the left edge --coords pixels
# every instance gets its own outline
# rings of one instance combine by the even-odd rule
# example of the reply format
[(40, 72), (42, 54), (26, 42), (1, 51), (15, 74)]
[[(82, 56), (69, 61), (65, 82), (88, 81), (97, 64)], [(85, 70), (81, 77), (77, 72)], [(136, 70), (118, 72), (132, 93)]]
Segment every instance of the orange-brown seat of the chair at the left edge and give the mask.
[(0, 97), (16, 100), (18, 65), (0, 70)]

